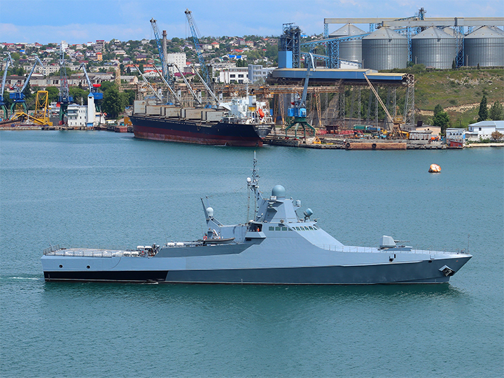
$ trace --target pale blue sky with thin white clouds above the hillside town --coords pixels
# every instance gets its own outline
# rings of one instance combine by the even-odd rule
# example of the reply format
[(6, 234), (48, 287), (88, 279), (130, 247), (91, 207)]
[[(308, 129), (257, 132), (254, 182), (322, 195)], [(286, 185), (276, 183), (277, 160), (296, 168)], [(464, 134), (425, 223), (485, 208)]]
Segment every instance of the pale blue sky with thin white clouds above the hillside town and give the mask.
[(153, 39), (151, 18), (168, 38), (186, 38), (186, 8), (201, 36), (279, 36), (290, 22), (313, 35), (323, 34), (324, 18), (406, 18), (422, 7), (427, 19), (504, 17), (503, 0), (0, 0), (0, 42)]

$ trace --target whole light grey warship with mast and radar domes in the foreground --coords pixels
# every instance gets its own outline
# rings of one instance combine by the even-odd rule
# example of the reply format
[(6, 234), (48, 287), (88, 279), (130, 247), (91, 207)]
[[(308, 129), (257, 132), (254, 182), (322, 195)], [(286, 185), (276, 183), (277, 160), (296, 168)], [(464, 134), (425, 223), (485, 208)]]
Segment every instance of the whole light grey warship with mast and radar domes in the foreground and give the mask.
[(264, 197), (257, 160), (247, 178), (254, 218), (223, 225), (201, 199), (207, 232), (195, 241), (132, 250), (60, 248), (43, 251), (45, 281), (149, 283), (376, 284), (446, 283), (472, 255), (418, 250), (383, 236), (377, 247), (346, 246), (322, 230), (313, 211), (276, 185)]

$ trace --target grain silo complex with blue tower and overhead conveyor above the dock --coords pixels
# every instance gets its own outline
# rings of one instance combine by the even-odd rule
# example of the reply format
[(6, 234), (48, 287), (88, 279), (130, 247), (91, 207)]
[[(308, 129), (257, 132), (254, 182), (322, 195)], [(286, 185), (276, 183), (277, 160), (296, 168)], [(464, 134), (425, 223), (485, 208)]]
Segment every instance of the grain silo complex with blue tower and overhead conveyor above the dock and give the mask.
[[(325, 18), (324, 38), (301, 42), (301, 31), (284, 25), (279, 50), (293, 54), (300, 68), (302, 50), (322, 47), (327, 68), (403, 69), (409, 62), (436, 69), (504, 66), (504, 18), (426, 18), (421, 8), (412, 17)], [(356, 25), (369, 25), (369, 31)], [(329, 32), (331, 25), (343, 25)], [(283, 60), (280, 60), (284, 63)], [(282, 66), (281, 67), (286, 67)]]

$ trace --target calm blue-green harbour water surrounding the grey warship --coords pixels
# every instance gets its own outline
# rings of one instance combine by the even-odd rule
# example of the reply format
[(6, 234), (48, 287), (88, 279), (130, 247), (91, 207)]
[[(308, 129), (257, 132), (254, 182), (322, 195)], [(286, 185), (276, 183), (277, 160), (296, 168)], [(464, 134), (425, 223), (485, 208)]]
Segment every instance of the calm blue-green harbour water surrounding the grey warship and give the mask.
[[(503, 377), (504, 150), (258, 148), (344, 244), (474, 256), (449, 284), (45, 283), (52, 244), (202, 237), (200, 197), (247, 219), (251, 148), (108, 132), (0, 132), (1, 377)], [(429, 174), (437, 163), (441, 174)]]

